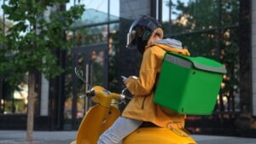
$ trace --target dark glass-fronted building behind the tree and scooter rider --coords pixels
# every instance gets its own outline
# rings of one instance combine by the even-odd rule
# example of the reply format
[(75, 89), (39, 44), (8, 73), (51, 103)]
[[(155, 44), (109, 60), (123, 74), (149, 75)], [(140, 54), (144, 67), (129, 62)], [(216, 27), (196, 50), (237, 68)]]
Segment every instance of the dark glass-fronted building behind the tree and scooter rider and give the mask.
[[(9, 0), (1, 0), (0, 5)], [(35, 130), (77, 130), (92, 104), (84, 95), (91, 85), (120, 92), (120, 76), (137, 75), (141, 55), (125, 49), (131, 22), (146, 14), (159, 20), (165, 37), (180, 40), (192, 56), (224, 63), (218, 100), (211, 116), (188, 116), (192, 134), (256, 137), (256, 2), (253, 0), (70, 0), (66, 9), (84, 4), (84, 14), (66, 32), (76, 42), (56, 54), (65, 69), (46, 80), (37, 74)], [(47, 11), (51, 13), (51, 9)], [(0, 9), (2, 34), (12, 26)], [(84, 84), (73, 72), (84, 70)], [(14, 89), (0, 73), (0, 130), (26, 130), (27, 75)], [(120, 106), (121, 109), (125, 106)]]

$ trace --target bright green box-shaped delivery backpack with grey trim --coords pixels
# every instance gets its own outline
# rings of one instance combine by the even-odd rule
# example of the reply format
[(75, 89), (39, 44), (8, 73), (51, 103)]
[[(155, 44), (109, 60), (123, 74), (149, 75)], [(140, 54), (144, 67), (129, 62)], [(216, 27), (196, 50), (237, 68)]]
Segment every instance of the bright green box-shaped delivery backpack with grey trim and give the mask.
[(166, 52), (154, 102), (181, 114), (212, 114), (224, 73), (215, 60)]

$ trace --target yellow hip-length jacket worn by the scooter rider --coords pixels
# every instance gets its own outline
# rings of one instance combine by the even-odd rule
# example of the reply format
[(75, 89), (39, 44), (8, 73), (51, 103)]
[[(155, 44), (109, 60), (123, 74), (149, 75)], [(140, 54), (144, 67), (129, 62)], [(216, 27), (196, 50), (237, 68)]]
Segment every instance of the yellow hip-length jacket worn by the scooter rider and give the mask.
[[(146, 47), (139, 77), (128, 78), (126, 87), (134, 95), (122, 113), (123, 117), (134, 118), (154, 123), (160, 127), (177, 127), (184, 125), (184, 115), (168, 110), (153, 101), (154, 84), (166, 51), (189, 55), (187, 49), (175, 49), (165, 44), (153, 43)], [(170, 98), (170, 101), (172, 99)]]

